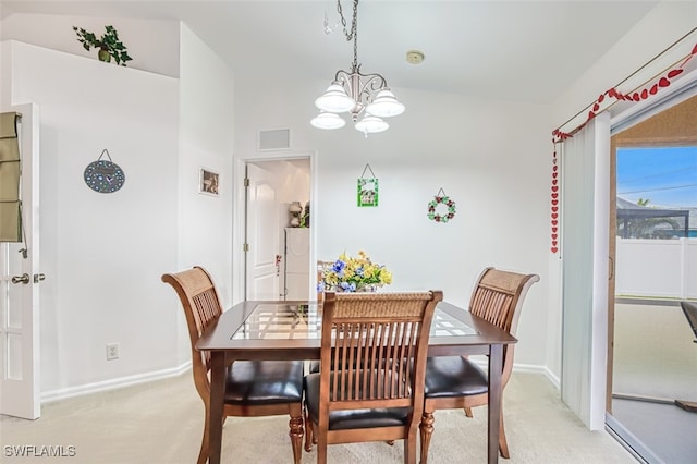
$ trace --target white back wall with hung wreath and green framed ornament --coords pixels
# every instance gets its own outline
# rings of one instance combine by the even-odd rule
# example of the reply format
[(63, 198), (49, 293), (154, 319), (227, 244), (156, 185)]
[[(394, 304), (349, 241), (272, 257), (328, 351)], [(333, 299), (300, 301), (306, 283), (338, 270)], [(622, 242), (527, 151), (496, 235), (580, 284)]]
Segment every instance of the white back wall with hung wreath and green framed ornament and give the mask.
[[(269, 84), (235, 77), (235, 156), (268, 156), (256, 151), (256, 133), (269, 127), (291, 129), (293, 151), (317, 152), (318, 259), (365, 249), (392, 270), (390, 290), (440, 289), (463, 306), (486, 266), (538, 273), (521, 319), (516, 362), (543, 368), (549, 108), (394, 88), (406, 112), (366, 139), (351, 125), (309, 125), (327, 82)], [(380, 182), (377, 208), (356, 206), (366, 163)], [(457, 206), (449, 223), (426, 217), (441, 187)]]

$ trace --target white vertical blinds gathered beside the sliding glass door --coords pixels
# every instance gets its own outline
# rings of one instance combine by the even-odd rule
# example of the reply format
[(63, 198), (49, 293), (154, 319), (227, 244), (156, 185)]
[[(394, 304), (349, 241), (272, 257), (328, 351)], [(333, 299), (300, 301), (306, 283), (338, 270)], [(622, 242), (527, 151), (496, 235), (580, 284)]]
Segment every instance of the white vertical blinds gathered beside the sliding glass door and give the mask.
[(604, 428), (610, 115), (564, 142), (562, 401), (591, 430)]

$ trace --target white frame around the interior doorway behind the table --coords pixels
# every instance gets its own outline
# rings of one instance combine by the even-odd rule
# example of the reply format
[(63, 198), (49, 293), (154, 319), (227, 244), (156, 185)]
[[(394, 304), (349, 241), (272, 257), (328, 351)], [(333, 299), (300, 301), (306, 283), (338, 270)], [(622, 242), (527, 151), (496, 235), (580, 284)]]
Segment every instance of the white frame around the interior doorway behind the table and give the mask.
[[(235, 158), (233, 161), (233, 230), (232, 230), (232, 294), (233, 304), (246, 298), (246, 253), (244, 252), (246, 239), (246, 187), (245, 173), (248, 162), (285, 161), (291, 159), (308, 158), (310, 175), (310, 205), (311, 227), (309, 232), (309, 274), (316, 272), (313, 262), (317, 262), (317, 224), (319, 223), (319, 195), (317, 194), (317, 151), (283, 151), (257, 152), (252, 156)], [(310, 279), (311, 282), (311, 279)], [(310, 289), (313, 290), (313, 289)], [(310, 291), (310, 295), (315, 292)]]

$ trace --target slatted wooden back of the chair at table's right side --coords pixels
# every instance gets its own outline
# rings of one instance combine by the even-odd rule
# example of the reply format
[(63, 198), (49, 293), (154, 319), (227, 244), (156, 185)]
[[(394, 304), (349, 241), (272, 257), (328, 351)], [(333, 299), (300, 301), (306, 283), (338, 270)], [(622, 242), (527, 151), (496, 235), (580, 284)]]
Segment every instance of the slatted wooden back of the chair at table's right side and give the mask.
[[(479, 274), (477, 285), (472, 293), (469, 312), (515, 337), (527, 291), (539, 280), (537, 274), (486, 268)], [(513, 344), (504, 346), (503, 386), (509, 381), (513, 370), (514, 346)]]

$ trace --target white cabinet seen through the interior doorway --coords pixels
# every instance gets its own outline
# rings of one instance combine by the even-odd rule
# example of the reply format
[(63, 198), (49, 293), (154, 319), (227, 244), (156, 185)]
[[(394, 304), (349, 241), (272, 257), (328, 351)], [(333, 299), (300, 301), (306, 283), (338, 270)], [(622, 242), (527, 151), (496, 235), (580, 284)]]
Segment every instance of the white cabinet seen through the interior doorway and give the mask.
[(309, 300), (309, 228), (285, 228), (285, 300)]

